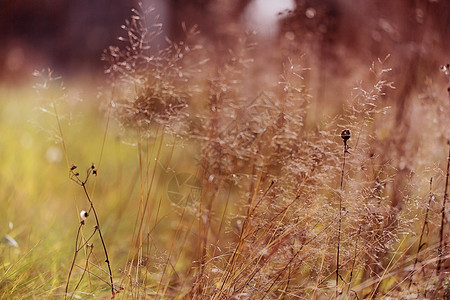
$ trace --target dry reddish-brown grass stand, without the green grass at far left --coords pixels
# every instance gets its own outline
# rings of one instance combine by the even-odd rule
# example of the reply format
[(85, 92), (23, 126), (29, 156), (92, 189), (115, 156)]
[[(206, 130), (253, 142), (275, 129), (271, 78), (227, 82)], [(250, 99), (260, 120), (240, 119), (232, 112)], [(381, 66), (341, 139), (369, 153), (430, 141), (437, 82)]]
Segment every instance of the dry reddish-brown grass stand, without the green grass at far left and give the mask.
[[(337, 111), (322, 115), (311, 90), (315, 66), (305, 67), (310, 60), (284, 43), (273, 48), (267, 67), (279, 74), (264, 77), (258, 67), (267, 57), (251, 34), (236, 35), (219, 55), (201, 44), (195, 28), (185, 29), (183, 42), (160, 48), (153, 41), (161, 27), (151, 16), (151, 9), (134, 11), (123, 44), (104, 53), (107, 124), (99, 160), (106, 136), (117, 133), (134, 146), (137, 171), (114, 187), (126, 200), (94, 209), (101, 191), (92, 196), (95, 183), (88, 192), (87, 178), (98, 168), (101, 180), (103, 165), (89, 168), (86, 180), (71, 169), (96, 227), (92, 236), (83, 233), (81, 220), (66, 293), (98, 295), (98, 288), (124, 299), (449, 296), (446, 67), (397, 76), (392, 57), (374, 59), (358, 69), (346, 101), (322, 100)], [(107, 217), (112, 211), (114, 218)], [(100, 231), (99, 219), (107, 230)], [(96, 232), (98, 249), (92, 246), (99, 243)], [(74, 266), (81, 271), (72, 274)]]

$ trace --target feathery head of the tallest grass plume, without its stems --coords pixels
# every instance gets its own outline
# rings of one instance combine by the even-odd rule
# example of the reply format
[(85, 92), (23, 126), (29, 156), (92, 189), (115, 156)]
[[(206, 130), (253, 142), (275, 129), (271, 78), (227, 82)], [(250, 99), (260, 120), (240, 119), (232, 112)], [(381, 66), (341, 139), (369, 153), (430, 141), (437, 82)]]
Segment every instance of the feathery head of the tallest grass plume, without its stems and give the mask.
[(115, 90), (111, 103), (115, 115), (124, 126), (138, 127), (149, 134), (161, 126), (181, 135), (196, 90), (190, 79), (198, 66), (185, 62), (191, 52), (199, 50), (190, 43), (197, 31), (195, 27), (185, 29), (185, 42), (166, 38), (166, 46), (161, 48), (156, 42), (161, 38), (162, 24), (154, 8), (141, 4), (132, 12), (122, 26), (125, 34), (118, 38), (120, 46), (110, 46), (103, 54), (105, 73)]

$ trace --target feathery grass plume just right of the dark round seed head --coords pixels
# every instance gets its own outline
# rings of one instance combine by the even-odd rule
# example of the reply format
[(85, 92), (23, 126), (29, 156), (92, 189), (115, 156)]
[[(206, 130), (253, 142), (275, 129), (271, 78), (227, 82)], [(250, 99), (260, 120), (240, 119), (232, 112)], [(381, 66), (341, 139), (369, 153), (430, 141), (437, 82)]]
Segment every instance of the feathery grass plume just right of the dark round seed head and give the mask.
[[(351, 222), (343, 223), (337, 234), (338, 245), (341, 248), (339, 253), (343, 251), (345, 257), (352, 256), (348, 251), (351, 249), (351, 237), (354, 235), (365, 240), (364, 246), (360, 250), (361, 253), (370, 249), (372, 249), (370, 251), (376, 249), (374, 243), (383, 245), (383, 247), (386, 246), (386, 241), (392, 241), (394, 236), (386, 231), (378, 230), (375, 232), (382, 233), (378, 238), (372, 241), (367, 240), (367, 238), (373, 239), (375, 237), (368, 237), (367, 233), (373, 232), (374, 228), (372, 226), (378, 227), (381, 222), (380, 218), (384, 218), (383, 215), (386, 214), (382, 213), (383, 210), (381, 210), (384, 205), (383, 199), (385, 199), (384, 201), (388, 199), (388, 196), (384, 194), (384, 186), (389, 182), (389, 179), (385, 178), (385, 174), (388, 174), (385, 171), (392, 170), (388, 162), (380, 162), (376, 166), (376, 168), (380, 168), (379, 170), (374, 168), (374, 162), (379, 156), (379, 151), (381, 151), (381, 149), (378, 150), (375, 147), (377, 143), (376, 129), (378, 124), (381, 124), (382, 120), (386, 119), (386, 113), (389, 109), (383, 103), (382, 98), (385, 97), (389, 89), (393, 88), (393, 83), (385, 79), (390, 71), (389, 68), (383, 66), (385, 62), (386, 59), (379, 60), (377, 64), (372, 64), (370, 70), (375, 75), (374, 82), (372, 84), (361, 82), (359, 87), (355, 88), (356, 93), (353, 99), (344, 107), (344, 114), (338, 121), (340, 123), (339, 127), (344, 129), (341, 133), (344, 141), (344, 154), (351, 153), (346, 158), (349, 162), (349, 169), (344, 170), (341, 168), (341, 185), (338, 192), (342, 201), (340, 202), (340, 207), (345, 208), (345, 218), (346, 220), (351, 220)], [(352, 133), (351, 146), (346, 143), (349, 132)], [(343, 185), (344, 179), (345, 189)], [(378, 210), (378, 212), (375, 210)], [(373, 218), (373, 220), (369, 221), (370, 218)], [(360, 233), (357, 234), (357, 232)], [(381, 240), (382, 236), (384, 238)], [(350, 281), (349, 276), (353, 274), (351, 270), (354, 269), (355, 264), (357, 267), (359, 266), (359, 255), (354, 258), (353, 262), (354, 264), (351, 268), (348, 264), (341, 266), (339, 263), (336, 268), (336, 286), (339, 279), (342, 279), (344, 282)], [(337, 271), (340, 268), (342, 268), (342, 271)]]

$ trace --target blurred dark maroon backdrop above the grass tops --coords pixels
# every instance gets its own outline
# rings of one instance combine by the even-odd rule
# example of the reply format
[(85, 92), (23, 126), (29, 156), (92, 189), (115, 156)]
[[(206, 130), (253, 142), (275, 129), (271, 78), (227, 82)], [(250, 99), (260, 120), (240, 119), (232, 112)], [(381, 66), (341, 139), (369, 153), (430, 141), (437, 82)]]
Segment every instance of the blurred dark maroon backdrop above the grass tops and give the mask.
[[(316, 58), (327, 74), (351, 71), (391, 54), (398, 65), (445, 64), (450, 49), (450, 1), (146, 0), (164, 34), (182, 38), (181, 23), (199, 26), (212, 45), (254, 29), (265, 49)], [(117, 43), (134, 0), (16, 0), (0, 2), (0, 80), (26, 82), (34, 69), (64, 76), (102, 72), (102, 51)], [(161, 40), (160, 42), (164, 42)], [(420, 61), (419, 61), (420, 60)], [(320, 75), (328, 76), (328, 75)], [(325, 78), (322, 78), (325, 79)]]

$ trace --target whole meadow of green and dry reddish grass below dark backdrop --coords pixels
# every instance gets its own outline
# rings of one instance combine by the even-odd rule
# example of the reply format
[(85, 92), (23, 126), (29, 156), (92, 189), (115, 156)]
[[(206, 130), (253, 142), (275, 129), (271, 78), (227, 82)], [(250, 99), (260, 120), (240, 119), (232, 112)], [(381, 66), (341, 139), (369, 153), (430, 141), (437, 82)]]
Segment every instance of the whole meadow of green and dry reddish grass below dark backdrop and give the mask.
[(1, 298), (449, 297), (448, 65), (375, 59), (327, 116), (286, 49), (262, 76), (251, 34), (160, 48), (150, 16), (105, 51), (101, 111), (52, 72), (45, 115), (2, 101)]

